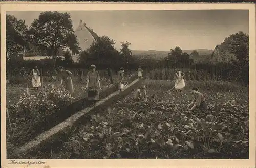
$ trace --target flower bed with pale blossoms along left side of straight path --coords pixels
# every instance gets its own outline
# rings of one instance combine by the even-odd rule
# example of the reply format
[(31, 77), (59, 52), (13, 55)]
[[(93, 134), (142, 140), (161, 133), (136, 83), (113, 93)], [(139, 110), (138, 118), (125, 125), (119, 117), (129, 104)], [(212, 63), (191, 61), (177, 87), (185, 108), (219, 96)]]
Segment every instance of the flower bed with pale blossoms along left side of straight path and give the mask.
[[(131, 82), (135, 79), (135, 75), (130, 75), (126, 81)], [(80, 89), (85, 93), (84, 88)], [(116, 90), (115, 84), (103, 86), (100, 99)], [(88, 105), (90, 104), (82, 93), (72, 97), (67, 91), (51, 87), (35, 95), (24, 93), (18, 103), (9, 106), (13, 130), (10, 130), (7, 123), (7, 141), (13, 146), (20, 146)]]

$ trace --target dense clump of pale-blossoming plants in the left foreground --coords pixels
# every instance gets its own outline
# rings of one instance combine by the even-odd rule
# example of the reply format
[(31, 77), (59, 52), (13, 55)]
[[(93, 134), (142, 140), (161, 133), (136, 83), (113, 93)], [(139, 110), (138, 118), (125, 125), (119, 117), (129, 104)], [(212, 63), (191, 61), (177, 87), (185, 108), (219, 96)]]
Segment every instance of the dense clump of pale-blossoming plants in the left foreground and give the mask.
[(53, 89), (48, 86), (45, 91), (36, 95), (29, 92), (21, 95), (19, 101), (10, 106), (11, 115), (40, 121), (46, 115), (72, 103), (73, 100), (74, 97), (69, 94), (68, 90)]

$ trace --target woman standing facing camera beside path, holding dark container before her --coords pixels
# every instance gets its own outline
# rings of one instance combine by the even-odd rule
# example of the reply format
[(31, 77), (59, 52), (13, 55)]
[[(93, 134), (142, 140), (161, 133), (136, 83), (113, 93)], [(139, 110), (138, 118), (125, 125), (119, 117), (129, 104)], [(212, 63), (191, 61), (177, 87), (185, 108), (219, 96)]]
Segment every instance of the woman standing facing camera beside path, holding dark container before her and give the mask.
[(93, 101), (92, 105), (95, 107), (96, 101), (99, 100), (99, 90), (101, 90), (100, 77), (95, 65), (91, 65), (86, 80), (87, 100)]

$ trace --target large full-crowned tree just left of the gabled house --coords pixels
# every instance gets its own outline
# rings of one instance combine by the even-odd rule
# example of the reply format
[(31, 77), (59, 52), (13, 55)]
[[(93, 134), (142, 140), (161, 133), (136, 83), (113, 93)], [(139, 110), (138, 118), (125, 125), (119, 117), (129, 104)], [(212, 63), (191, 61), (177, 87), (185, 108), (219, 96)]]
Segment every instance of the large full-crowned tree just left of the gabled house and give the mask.
[(42, 12), (39, 18), (32, 22), (29, 33), (32, 43), (53, 58), (54, 68), (59, 49), (68, 48), (73, 53), (79, 53), (80, 47), (69, 13)]

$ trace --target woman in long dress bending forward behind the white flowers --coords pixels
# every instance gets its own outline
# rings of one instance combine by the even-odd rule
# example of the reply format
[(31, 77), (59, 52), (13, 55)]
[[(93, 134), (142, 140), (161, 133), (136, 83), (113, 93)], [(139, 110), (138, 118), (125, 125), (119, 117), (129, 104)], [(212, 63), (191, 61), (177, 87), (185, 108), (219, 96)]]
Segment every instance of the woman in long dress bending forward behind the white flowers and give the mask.
[[(73, 75), (71, 71), (64, 69), (62, 66), (59, 67), (60, 73), (58, 74), (60, 78), (60, 85), (62, 83), (65, 84), (65, 89), (69, 91), (69, 93), (72, 95), (74, 93), (74, 87), (73, 87), (73, 82), (71, 79), (71, 76)], [(59, 85), (59, 86), (60, 86)]]

